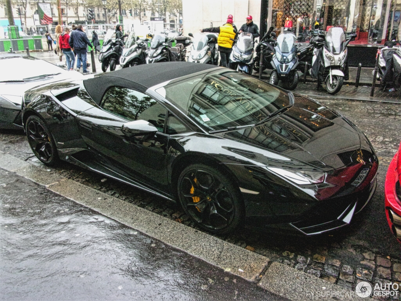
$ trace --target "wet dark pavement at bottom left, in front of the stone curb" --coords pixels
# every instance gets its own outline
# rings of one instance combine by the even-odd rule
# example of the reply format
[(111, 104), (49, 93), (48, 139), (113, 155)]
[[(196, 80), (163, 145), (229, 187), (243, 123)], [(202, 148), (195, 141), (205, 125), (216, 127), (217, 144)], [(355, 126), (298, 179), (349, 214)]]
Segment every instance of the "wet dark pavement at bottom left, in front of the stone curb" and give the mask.
[(284, 300), (0, 169), (0, 300)]

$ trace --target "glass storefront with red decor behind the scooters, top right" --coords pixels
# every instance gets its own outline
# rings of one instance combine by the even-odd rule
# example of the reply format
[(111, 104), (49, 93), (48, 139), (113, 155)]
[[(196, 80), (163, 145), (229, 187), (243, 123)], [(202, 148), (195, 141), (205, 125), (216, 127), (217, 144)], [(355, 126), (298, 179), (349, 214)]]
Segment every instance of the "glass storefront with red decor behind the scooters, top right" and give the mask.
[(261, 32), (290, 30), (306, 42), (316, 29), (342, 27), (357, 34), (350, 44), (401, 39), (401, 0), (261, 0)]

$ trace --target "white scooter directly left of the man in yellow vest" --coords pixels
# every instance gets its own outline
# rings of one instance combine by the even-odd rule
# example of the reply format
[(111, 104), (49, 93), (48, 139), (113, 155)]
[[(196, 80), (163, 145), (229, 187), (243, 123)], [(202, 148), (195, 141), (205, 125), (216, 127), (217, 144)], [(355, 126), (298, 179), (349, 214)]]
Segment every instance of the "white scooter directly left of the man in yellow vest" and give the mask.
[(208, 33), (206, 35), (199, 34), (194, 37), (192, 33), (188, 33), (188, 36), (194, 38), (188, 62), (217, 66), (219, 61), (219, 53), (216, 47), (217, 35), (215, 33)]

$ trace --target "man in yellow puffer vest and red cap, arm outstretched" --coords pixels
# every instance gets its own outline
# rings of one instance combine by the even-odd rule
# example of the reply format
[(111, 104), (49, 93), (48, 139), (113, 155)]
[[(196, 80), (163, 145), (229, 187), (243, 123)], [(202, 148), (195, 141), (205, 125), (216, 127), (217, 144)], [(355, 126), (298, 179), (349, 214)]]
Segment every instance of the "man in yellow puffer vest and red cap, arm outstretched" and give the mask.
[(221, 65), (227, 67), (230, 59), (231, 50), (237, 31), (233, 28), (233, 19), (228, 18), (227, 23), (219, 27), (210, 27), (201, 29), (202, 33), (218, 33), (217, 45), (219, 45)]

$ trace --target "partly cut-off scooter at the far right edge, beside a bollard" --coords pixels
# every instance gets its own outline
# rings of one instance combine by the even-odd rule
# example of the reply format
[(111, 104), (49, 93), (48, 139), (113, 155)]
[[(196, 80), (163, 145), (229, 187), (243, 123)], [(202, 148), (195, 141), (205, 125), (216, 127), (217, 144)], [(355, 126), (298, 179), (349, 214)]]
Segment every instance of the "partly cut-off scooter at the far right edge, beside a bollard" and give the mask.
[(399, 41), (386, 41), (385, 47), (377, 49), (379, 55), (379, 69), (376, 79), (380, 81), (383, 89), (391, 91), (400, 88), (401, 84), (401, 47)]

